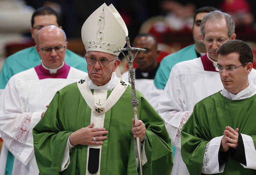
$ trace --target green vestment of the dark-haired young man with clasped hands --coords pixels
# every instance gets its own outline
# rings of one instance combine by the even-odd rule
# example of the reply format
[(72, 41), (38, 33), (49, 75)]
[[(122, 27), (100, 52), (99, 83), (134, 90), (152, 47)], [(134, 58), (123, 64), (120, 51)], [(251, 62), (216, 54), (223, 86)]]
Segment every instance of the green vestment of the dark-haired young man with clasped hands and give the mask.
[[(255, 113), (256, 95), (244, 100), (229, 100), (218, 92), (198, 102), (181, 129), (181, 155), (189, 173), (201, 174), (206, 144), (212, 138), (222, 136), (226, 126), (239, 128), (239, 133), (251, 136), (255, 146)], [(256, 174), (256, 170), (244, 168), (232, 159), (230, 150), (224, 172), (219, 174)]]

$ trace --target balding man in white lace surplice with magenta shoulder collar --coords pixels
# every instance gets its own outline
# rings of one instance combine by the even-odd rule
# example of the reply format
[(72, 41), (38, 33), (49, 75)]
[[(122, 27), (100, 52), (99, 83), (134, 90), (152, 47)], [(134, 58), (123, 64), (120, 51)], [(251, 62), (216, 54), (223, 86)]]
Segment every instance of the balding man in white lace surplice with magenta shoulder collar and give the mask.
[[(0, 174), (39, 173), (32, 129), (44, 116), (54, 94), (87, 74), (65, 63), (68, 42), (65, 32), (59, 27), (43, 27), (36, 35), (36, 44), (42, 63), (13, 75), (0, 96), (3, 138)], [(14, 156), (13, 168), (7, 159), (8, 150)]]

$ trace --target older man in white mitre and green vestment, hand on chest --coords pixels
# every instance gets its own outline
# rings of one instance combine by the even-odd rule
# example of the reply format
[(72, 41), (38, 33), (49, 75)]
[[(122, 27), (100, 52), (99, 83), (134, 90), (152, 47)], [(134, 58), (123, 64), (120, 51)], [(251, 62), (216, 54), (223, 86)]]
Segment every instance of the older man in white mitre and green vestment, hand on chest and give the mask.
[(140, 92), (135, 123), (131, 87), (118, 77), (127, 27), (105, 3), (86, 19), (82, 40), (88, 76), (59, 90), (33, 128), (41, 175), (136, 175), (134, 138), (140, 137), (144, 174), (170, 175), (171, 139), (164, 121)]

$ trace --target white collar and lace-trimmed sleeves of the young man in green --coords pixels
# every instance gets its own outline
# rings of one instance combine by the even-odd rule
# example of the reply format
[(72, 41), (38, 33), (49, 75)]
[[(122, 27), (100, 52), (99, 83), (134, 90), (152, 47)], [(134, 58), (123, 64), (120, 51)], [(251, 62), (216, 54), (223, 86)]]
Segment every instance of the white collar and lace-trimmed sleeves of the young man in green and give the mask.
[[(225, 88), (221, 91), (221, 94), (230, 100), (243, 100), (256, 94), (256, 85), (249, 79), (249, 86), (240, 91), (237, 94), (228, 92)], [(242, 134), (242, 140), (244, 145), (244, 152), (246, 157), (246, 165), (241, 164), (244, 168), (256, 169), (256, 150), (254, 146), (253, 138), (249, 135)], [(220, 148), (221, 139), (223, 136), (214, 137), (205, 147), (205, 153), (203, 158), (202, 173), (204, 174), (216, 174), (222, 173), (225, 168), (224, 163), (219, 167), (218, 153)], [(204, 162), (205, 161), (205, 162)]]

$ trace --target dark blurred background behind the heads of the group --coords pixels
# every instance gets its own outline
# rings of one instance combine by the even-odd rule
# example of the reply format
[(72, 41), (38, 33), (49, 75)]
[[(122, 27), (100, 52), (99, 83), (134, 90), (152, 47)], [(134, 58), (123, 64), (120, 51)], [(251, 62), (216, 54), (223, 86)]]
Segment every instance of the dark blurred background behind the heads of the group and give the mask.
[[(113, 3), (119, 11), (131, 42), (139, 32), (156, 36), (162, 50), (159, 62), (164, 56), (193, 43), (193, 15), (202, 6), (213, 6), (232, 15), (237, 39), (247, 41), (256, 50), (255, 0), (0, 0), (0, 70), (7, 56), (35, 45), (30, 36), (30, 19), (34, 9), (42, 6), (50, 6), (60, 13), (68, 48), (83, 56), (81, 27), (104, 2)], [(122, 65), (123, 72), (126, 62)]]

